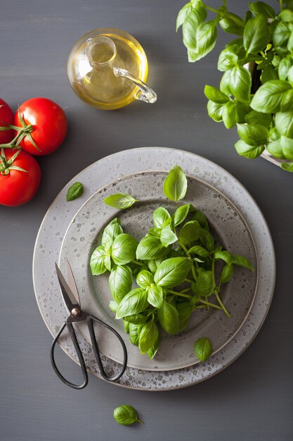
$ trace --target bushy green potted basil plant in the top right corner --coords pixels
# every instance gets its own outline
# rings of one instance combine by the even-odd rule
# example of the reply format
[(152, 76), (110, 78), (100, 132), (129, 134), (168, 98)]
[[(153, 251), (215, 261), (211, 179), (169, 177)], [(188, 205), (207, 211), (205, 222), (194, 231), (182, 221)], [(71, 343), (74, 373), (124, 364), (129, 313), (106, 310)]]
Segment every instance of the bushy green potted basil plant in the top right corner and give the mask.
[[(264, 156), (293, 172), (293, 0), (278, 1), (280, 9), (263, 1), (249, 2), (244, 18), (192, 0), (178, 13), (183, 44), (191, 62), (203, 58), (216, 44), (217, 29), (237, 38), (221, 51), (219, 87), (206, 85), (209, 116), (227, 129), (237, 125), (238, 154)], [(215, 14), (207, 20), (207, 13)]]

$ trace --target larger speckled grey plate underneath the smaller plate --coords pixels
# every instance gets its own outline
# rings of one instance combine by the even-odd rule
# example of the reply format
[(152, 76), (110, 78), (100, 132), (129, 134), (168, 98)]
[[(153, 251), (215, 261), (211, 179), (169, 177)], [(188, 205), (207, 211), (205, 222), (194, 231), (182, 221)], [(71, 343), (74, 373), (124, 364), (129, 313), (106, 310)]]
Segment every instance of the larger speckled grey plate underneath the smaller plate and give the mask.
[[(127, 179), (128, 176), (132, 177), (150, 171), (156, 173), (166, 172), (174, 166), (174, 163), (178, 163), (190, 175), (191, 180), (194, 182), (202, 181), (202, 185), (207, 185), (211, 188), (211, 191), (220, 195), (217, 199), (214, 198), (215, 201), (218, 201), (218, 199), (219, 201), (221, 199), (225, 201), (227, 199), (226, 204), (230, 204), (231, 210), (232, 207), (235, 207), (235, 213), (237, 213), (235, 217), (238, 218), (239, 216), (239, 220), (242, 219), (244, 223), (243, 225), (248, 225), (247, 231), (249, 230), (249, 235), (256, 248), (259, 282), (256, 286), (254, 302), (252, 304), (251, 299), (249, 303), (252, 304), (251, 309), (249, 311), (249, 306), (247, 309), (247, 319), (237, 326), (239, 328), (238, 332), (235, 328), (234, 337), (230, 340), (227, 339), (227, 341), (229, 340), (228, 343), (224, 347), (220, 346), (218, 352), (211, 356), (207, 362), (184, 368), (174, 368), (171, 371), (160, 370), (160, 368), (156, 368), (155, 371), (150, 370), (150, 368), (143, 370), (129, 366), (119, 383), (115, 384), (133, 389), (168, 390), (199, 383), (226, 368), (237, 356), (242, 354), (247, 345), (254, 339), (268, 312), (275, 282), (273, 243), (266, 221), (255, 201), (240, 182), (237, 182), (226, 170), (195, 154), (162, 147), (144, 147), (121, 151), (93, 163), (79, 173), (58, 194), (41, 224), (34, 249), (33, 277), (37, 302), (48, 329), (52, 335), (56, 335), (60, 325), (67, 317), (67, 310), (60, 295), (54, 263), (58, 261), (61, 243), (72, 218), (87, 199), (92, 200), (93, 195), (95, 195), (93, 198), (98, 197), (98, 190), (101, 188), (105, 187), (107, 189), (109, 182), (122, 178)], [(150, 173), (146, 175), (150, 175)], [(160, 173), (158, 175), (162, 178)], [(86, 191), (82, 198), (69, 204), (65, 201), (67, 188), (76, 180), (84, 183)], [(159, 186), (161, 186), (161, 183), (159, 183)], [(114, 215), (115, 212), (113, 211), (112, 216)], [(207, 213), (207, 215), (212, 225), (214, 225), (211, 213)], [(106, 219), (105, 222), (107, 222)], [(217, 232), (219, 232), (225, 245), (230, 243), (226, 242), (227, 237), (220, 229)], [(97, 234), (98, 231), (96, 231)], [(82, 241), (79, 242), (82, 244)], [(251, 251), (252, 248), (249, 247), (249, 249), (252, 255), (248, 254), (247, 256), (250, 256), (253, 261), (253, 251)], [(242, 276), (242, 273), (240, 276)], [(97, 287), (95, 290), (97, 290)], [(226, 292), (224, 297), (226, 301), (229, 301)], [(84, 302), (84, 298), (82, 302)], [(86, 354), (86, 364), (89, 371), (100, 377), (94, 362), (91, 345), (82, 333), (79, 333), (79, 340), (82, 344), (82, 350)], [(63, 336), (60, 345), (74, 361), (77, 361), (74, 347), (67, 335)], [(103, 356), (103, 361), (108, 371), (116, 371), (116, 361), (107, 356)]]

